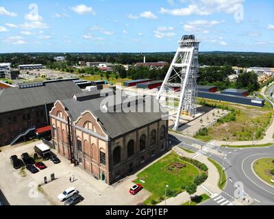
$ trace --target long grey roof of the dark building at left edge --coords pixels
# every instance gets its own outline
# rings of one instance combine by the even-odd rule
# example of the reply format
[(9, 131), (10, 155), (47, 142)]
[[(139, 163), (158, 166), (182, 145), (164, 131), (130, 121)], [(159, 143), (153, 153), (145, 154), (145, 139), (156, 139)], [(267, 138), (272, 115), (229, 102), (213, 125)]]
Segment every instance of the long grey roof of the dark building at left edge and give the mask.
[(36, 107), (69, 99), (82, 90), (73, 81), (45, 83), (33, 88), (5, 88), (0, 92), (0, 113)]

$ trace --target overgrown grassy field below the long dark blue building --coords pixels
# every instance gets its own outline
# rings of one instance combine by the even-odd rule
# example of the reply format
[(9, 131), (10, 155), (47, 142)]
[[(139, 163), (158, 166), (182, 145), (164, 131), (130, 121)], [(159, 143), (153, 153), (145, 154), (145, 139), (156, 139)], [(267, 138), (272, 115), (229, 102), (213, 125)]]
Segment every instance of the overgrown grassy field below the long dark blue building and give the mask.
[(273, 110), (269, 107), (269, 103), (266, 103), (265, 107), (251, 107), (206, 99), (199, 99), (199, 101), (206, 101), (207, 104), (216, 105), (216, 107), (234, 109), (236, 114), (235, 120), (230, 120), (227, 123), (219, 122), (210, 127), (207, 136), (195, 136), (195, 138), (204, 141), (211, 139), (227, 140), (227, 137), (229, 141), (245, 141), (253, 140), (253, 135), (254, 140), (261, 140), (264, 131), (271, 123), (271, 116), (273, 116)]

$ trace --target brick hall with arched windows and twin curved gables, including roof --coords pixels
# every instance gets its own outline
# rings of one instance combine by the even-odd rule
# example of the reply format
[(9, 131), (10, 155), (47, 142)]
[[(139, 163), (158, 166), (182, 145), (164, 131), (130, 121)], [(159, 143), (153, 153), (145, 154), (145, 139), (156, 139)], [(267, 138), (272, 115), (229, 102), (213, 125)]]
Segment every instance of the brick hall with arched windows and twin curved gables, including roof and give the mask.
[[(105, 112), (100, 108), (105, 99), (100, 92), (84, 92), (56, 101), (50, 118), (53, 147), (96, 179), (110, 185), (168, 149), (168, 120), (163, 120), (166, 113), (153, 98), (147, 100), (138, 96), (137, 100), (128, 100), (122, 97), (121, 101), (116, 101), (114, 92), (106, 93), (115, 101), (103, 105)], [(124, 112), (124, 104), (135, 112)], [(153, 107), (151, 112), (138, 112), (146, 104)]]

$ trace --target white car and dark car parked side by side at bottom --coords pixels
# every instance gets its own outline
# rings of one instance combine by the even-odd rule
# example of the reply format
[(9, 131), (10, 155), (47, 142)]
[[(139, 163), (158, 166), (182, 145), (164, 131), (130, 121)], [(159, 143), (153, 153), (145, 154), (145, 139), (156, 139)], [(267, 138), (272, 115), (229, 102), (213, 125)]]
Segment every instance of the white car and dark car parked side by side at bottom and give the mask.
[(83, 196), (79, 194), (74, 187), (64, 190), (59, 196), (60, 201), (65, 201), (64, 205), (76, 205), (84, 200)]

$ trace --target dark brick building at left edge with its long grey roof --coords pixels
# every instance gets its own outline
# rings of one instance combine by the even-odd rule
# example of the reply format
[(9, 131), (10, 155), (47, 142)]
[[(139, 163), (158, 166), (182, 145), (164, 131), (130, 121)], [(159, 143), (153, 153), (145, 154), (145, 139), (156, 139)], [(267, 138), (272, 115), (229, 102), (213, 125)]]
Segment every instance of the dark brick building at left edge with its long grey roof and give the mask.
[(34, 135), (36, 128), (49, 125), (53, 103), (78, 92), (82, 90), (73, 81), (21, 83), (18, 87), (1, 89), (0, 146), (14, 144)]

